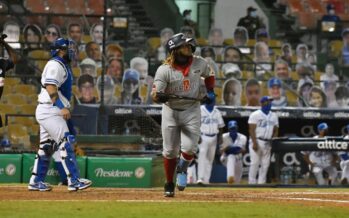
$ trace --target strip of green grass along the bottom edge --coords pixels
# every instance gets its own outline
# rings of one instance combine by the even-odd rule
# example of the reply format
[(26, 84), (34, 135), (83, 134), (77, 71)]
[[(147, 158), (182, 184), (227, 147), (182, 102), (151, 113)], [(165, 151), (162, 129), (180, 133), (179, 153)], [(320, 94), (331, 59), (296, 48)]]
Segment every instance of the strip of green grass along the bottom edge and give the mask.
[(0, 217), (348, 217), (349, 208), (287, 202), (2, 201)]

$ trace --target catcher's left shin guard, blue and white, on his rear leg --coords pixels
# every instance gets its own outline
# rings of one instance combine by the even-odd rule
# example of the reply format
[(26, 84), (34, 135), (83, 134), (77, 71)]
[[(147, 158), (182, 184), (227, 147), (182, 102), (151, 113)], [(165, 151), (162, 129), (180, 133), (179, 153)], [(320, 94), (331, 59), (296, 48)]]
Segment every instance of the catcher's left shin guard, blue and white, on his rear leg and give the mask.
[(44, 182), (50, 165), (51, 156), (55, 150), (55, 144), (51, 141), (40, 143), (36, 154), (30, 184)]

